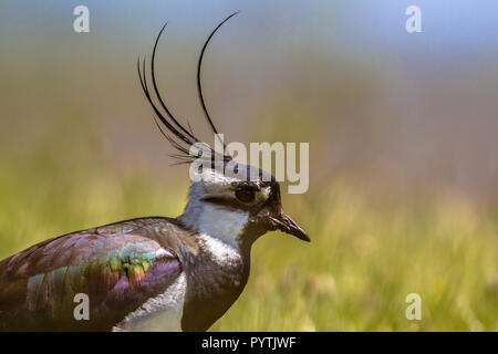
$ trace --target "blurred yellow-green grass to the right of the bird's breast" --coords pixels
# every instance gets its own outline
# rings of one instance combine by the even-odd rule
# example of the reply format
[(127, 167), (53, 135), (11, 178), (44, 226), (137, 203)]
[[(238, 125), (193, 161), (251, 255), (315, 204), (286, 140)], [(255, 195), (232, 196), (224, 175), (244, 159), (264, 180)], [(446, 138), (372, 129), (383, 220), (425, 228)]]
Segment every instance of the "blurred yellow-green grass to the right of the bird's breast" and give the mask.
[[(344, 184), (299, 215), (313, 239), (269, 235), (247, 291), (214, 330), (496, 331), (496, 220), (458, 200), (373, 206)], [(422, 321), (405, 296), (422, 296)]]

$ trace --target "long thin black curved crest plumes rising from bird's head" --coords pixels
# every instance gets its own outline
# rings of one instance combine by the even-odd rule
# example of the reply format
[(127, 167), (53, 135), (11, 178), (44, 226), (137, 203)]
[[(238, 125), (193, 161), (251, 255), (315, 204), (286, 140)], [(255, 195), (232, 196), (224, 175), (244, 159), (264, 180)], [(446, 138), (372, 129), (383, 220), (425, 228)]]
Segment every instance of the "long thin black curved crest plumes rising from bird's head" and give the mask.
[[(197, 62), (197, 92), (200, 100), (200, 105), (203, 107), (204, 115), (206, 119), (209, 123), (209, 126), (212, 129), (212, 133), (218, 134), (218, 129), (216, 128), (209, 112), (206, 107), (206, 102), (203, 96), (203, 85), (201, 85), (201, 66), (203, 66), (203, 58), (204, 53), (206, 52), (206, 49), (211, 40), (211, 38), (215, 35), (215, 33), (219, 30), (221, 25), (224, 25), (225, 22), (227, 22), (229, 19), (231, 19), (234, 15), (239, 13), (239, 11), (234, 12), (229, 17), (227, 17), (224, 21), (221, 21), (209, 34), (206, 42), (203, 45), (203, 49), (199, 54), (199, 60)], [(166, 25), (168, 23), (166, 22), (163, 28), (160, 29), (159, 33), (157, 34), (156, 41), (154, 42), (154, 48), (152, 52), (151, 58), (151, 77), (147, 79), (147, 71), (146, 71), (146, 59), (141, 62), (141, 59), (138, 58), (137, 61), (137, 72), (138, 77), (141, 80), (142, 90), (144, 91), (145, 97), (147, 98), (148, 103), (151, 104), (153, 111), (154, 111), (154, 121), (159, 128), (159, 132), (163, 134), (163, 136), (172, 144), (174, 148), (178, 150), (177, 154), (173, 154), (172, 156), (178, 159), (178, 164), (188, 164), (197, 156), (193, 156), (189, 153), (189, 148), (194, 144), (201, 144), (204, 149), (207, 149), (211, 154), (211, 158), (214, 158), (215, 154), (218, 154), (218, 152), (215, 152), (208, 144), (201, 142), (199, 138), (197, 138), (194, 135), (194, 132), (190, 127), (190, 124), (187, 121), (187, 127), (184, 126), (180, 122), (178, 122), (177, 118), (173, 115), (172, 111), (166, 105), (166, 102), (163, 100), (163, 97), (159, 94), (159, 90), (157, 87), (157, 81), (156, 75), (154, 71), (154, 64), (155, 64), (155, 58), (156, 58), (156, 49), (157, 43), (159, 42), (159, 38), (163, 34), (164, 30), (166, 29)], [(152, 91), (149, 87), (149, 83), (152, 83)], [(224, 145), (225, 147), (225, 145)], [(222, 159), (225, 162), (228, 162), (231, 159), (231, 156), (225, 155), (222, 156)]]

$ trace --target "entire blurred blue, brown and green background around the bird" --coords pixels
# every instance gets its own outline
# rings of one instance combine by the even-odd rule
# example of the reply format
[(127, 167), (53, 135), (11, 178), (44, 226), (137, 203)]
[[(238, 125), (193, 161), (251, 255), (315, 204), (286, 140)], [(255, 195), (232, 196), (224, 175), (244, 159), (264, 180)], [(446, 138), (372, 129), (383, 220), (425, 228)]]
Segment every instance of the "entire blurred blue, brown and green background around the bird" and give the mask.
[[(72, 28), (90, 8), (90, 33)], [(417, 1), (11, 1), (0, 4), (0, 258), (69, 231), (177, 216), (139, 87), (157, 53), (173, 112), (229, 140), (309, 142), (310, 189), (284, 195), (310, 244), (253, 247), (249, 283), (214, 331), (498, 330), (498, 6)], [(206, 136), (209, 136), (206, 134)], [(287, 188), (286, 188), (287, 189)], [(283, 190), (286, 190), (283, 189)], [(422, 296), (422, 321), (405, 296)]]

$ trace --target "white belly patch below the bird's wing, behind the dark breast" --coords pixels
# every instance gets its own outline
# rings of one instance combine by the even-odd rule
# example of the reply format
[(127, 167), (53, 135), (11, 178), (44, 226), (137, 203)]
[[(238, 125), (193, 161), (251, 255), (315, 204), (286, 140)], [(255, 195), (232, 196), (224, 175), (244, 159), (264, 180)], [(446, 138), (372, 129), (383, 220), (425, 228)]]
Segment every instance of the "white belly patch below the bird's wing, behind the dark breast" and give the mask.
[(113, 331), (181, 332), (186, 291), (187, 280), (185, 273), (181, 273), (164, 293), (148, 299), (114, 326)]

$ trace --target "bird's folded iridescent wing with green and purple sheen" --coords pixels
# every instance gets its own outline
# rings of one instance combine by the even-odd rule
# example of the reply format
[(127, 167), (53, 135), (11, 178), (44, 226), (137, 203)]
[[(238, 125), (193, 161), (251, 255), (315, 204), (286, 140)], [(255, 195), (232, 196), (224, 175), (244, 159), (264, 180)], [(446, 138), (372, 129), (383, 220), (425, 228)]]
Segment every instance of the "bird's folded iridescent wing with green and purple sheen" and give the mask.
[[(167, 221), (135, 219), (79, 231), (4, 259), (0, 330), (112, 329), (181, 273), (176, 254), (157, 241), (167, 236)], [(87, 295), (90, 320), (74, 317), (85, 301), (76, 294)]]

